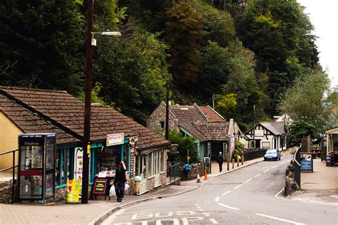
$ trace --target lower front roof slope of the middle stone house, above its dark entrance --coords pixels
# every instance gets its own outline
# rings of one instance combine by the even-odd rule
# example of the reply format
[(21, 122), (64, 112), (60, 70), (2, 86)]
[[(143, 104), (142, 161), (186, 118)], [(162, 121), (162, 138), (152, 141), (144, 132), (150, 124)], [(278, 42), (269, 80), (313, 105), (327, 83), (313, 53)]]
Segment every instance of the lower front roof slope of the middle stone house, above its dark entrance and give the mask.
[(227, 140), (227, 130), (229, 122), (208, 122), (204, 124), (193, 124), (193, 126), (203, 133), (210, 141)]

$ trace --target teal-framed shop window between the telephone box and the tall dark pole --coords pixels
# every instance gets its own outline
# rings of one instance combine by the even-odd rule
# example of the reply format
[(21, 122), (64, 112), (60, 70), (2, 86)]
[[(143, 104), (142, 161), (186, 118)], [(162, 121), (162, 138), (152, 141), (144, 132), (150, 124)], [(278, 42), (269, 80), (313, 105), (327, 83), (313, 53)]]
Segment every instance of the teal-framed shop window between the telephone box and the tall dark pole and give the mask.
[(58, 149), (56, 150), (56, 187), (64, 187), (67, 185), (67, 179), (73, 178), (73, 160), (71, 150)]

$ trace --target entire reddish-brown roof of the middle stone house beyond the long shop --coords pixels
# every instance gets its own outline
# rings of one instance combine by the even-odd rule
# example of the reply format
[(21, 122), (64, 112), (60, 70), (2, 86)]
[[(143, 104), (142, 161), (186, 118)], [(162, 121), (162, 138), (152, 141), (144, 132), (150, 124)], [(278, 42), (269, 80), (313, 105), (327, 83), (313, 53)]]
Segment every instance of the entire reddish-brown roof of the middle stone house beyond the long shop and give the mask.
[(170, 105), (170, 112), (178, 120), (178, 126), (188, 130), (201, 141), (227, 140), (229, 123), (208, 106)]

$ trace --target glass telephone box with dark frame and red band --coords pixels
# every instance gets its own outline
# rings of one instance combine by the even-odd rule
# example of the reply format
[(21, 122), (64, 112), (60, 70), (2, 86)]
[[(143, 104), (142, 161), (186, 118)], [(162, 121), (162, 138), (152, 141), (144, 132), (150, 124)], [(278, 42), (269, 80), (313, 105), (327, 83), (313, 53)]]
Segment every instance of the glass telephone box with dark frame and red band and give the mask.
[(54, 199), (55, 157), (56, 134), (19, 135), (19, 202)]

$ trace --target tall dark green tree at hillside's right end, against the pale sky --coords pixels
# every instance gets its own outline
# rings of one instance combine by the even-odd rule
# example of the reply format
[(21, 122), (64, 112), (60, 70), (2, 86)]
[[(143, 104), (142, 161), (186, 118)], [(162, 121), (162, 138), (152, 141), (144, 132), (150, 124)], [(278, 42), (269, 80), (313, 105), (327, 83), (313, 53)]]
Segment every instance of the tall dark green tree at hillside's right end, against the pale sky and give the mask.
[(257, 72), (268, 75), (265, 112), (275, 115), (280, 96), (302, 68), (317, 66), (312, 24), (296, 0), (250, 1), (235, 24), (240, 40), (256, 55)]

